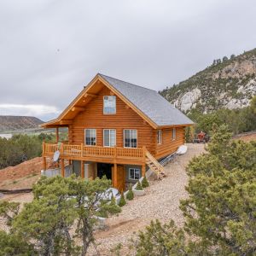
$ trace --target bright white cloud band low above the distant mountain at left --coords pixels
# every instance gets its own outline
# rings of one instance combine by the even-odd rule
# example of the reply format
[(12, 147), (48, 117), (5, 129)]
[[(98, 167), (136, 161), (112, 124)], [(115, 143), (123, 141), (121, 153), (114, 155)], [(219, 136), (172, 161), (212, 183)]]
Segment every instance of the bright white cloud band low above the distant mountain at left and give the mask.
[(60, 111), (53, 106), (23, 105), (23, 104), (0, 104), (0, 115), (26, 115), (48, 119), (56, 116)]

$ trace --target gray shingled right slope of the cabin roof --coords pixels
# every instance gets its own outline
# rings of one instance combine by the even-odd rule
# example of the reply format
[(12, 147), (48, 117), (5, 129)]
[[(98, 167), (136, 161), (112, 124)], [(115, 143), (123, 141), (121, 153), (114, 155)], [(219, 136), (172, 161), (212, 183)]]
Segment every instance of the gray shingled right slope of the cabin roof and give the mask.
[(155, 90), (113, 79), (103, 74), (99, 75), (116, 90), (119, 90), (128, 101), (146, 114), (156, 125), (194, 124), (192, 120), (177, 108), (174, 108), (170, 102), (167, 102)]

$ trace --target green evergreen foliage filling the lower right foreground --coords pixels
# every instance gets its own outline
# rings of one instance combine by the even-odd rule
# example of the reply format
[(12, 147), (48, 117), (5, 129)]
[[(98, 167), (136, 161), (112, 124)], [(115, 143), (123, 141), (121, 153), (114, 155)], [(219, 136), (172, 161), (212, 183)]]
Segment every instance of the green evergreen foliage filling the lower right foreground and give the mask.
[(173, 222), (169, 226), (151, 223), (133, 241), (137, 255), (256, 252), (256, 143), (231, 141), (225, 125), (213, 128), (207, 153), (187, 167), (189, 198), (180, 205), (183, 230)]

